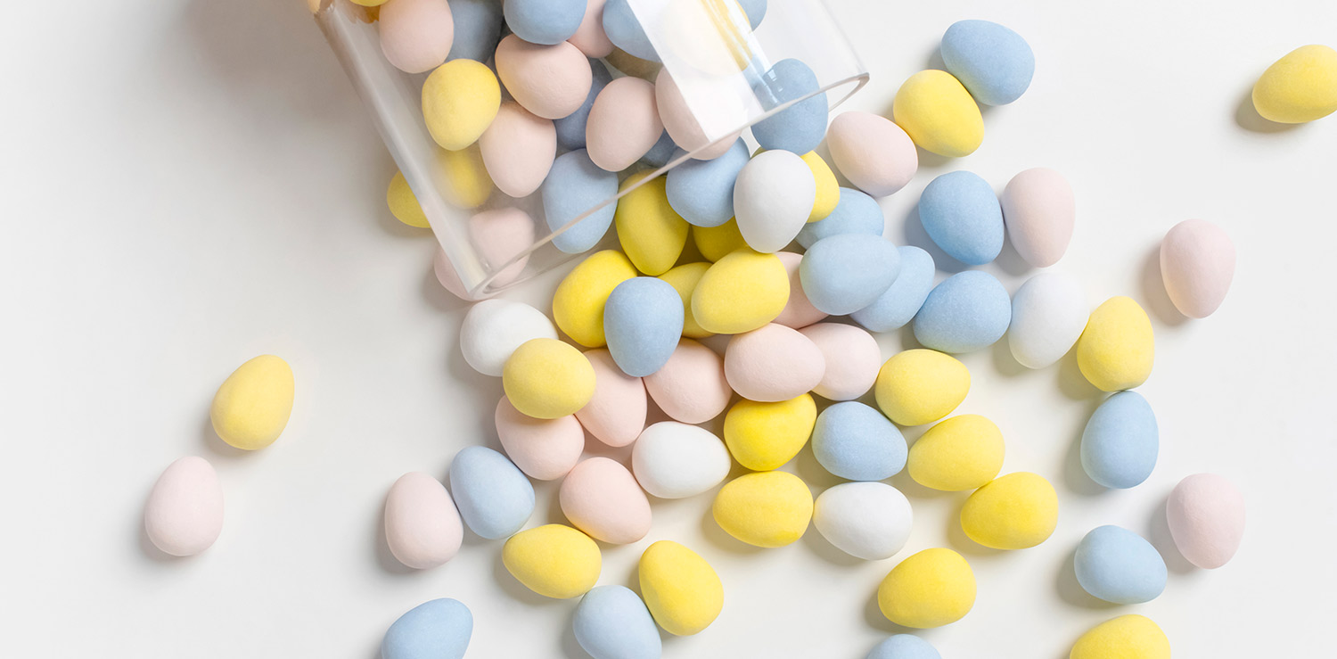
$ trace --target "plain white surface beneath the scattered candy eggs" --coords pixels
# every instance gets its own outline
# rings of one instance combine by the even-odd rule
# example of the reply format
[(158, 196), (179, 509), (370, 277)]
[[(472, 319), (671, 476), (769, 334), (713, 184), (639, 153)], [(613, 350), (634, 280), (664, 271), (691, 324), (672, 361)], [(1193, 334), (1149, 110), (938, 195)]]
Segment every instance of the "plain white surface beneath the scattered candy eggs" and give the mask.
[[(787, 548), (746, 549), (703, 516), (706, 495), (656, 504), (648, 539), (606, 551), (602, 583), (632, 583), (640, 549), (675, 539), (721, 573), (726, 606), (701, 635), (668, 639), (666, 656), (861, 658), (892, 631), (872, 599), (881, 577), (947, 543), (980, 584), (969, 616), (925, 634), (947, 658), (1060, 659), (1087, 627), (1134, 611), (1181, 658), (1313, 656), (1314, 630), (1337, 614), (1325, 418), (1337, 396), (1337, 118), (1263, 134), (1237, 110), (1270, 61), (1332, 43), (1337, 4), (834, 3), (874, 74), (857, 108), (886, 108), (956, 19), (997, 19), (1029, 39), (1029, 92), (988, 111), (977, 154), (928, 160), (884, 202), (889, 235), (904, 239), (937, 172), (972, 168), (999, 190), (1025, 167), (1066, 172), (1079, 219), (1059, 267), (1092, 302), (1131, 294), (1154, 314), (1157, 368), (1140, 390), (1161, 421), (1161, 463), (1136, 489), (1094, 492), (1074, 441), (1095, 392), (1071, 358), (1019, 373), (1000, 342), (965, 358), (975, 386), (960, 412), (1003, 428), (1005, 471), (1059, 488), (1060, 525), (1042, 547), (972, 547), (953, 517), (963, 496), (898, 476), (916, 523), (890, 560), (844, 559), (812, 529)], [(464, 306), (431, 278), (431, 238), (386, 213), (393, 164), (302, 3), (19, 3), (3, 36), (7, 654), (370, 658), (400, 612), (453, 596), (477, 620), (469, 656), (580, 656), (575, 603), (523, 591), (500, 543), (469, 536), (424, 573), (388, 557), (386, 489), (408, 471), (444, 477), (460, 446), (495, 444), (500, 382), (463, 362)], [(1167, 311), (1152, 259), (1190, 217), (1239, 246), (1234, 289), (1201, 322)], [(1016, 262), (991, 270), (1015, 274)], [(1005, 277), (1012, 290), (1020, 281)], [(511, 297), (541, 303), (554, 283)], [(902, 337), (882, 337), (884, 354)], [(277, 444), (237, 454), (211, 436), (209, 401), (266, 352), (293, 365), (297, 406)], [(146, 548), (140, 512), (159, 471), (191, 453), (218, 467), (226, 525), (205, 555), (167, 560)], [(797, 471), (833, 483), (810, 452)], [(1171, 487), (1201, 471), (1230, 476), (1249, 501), (1243, 547), (1214, 572), (1186, 569), (1161, 515)], [(532, 524), (560, 515), (552, 493), (540, 487)], [(1078, 589), (1071, 551), (1106, 523), (1167, 552), (1161, 599), (1104, 607)]]

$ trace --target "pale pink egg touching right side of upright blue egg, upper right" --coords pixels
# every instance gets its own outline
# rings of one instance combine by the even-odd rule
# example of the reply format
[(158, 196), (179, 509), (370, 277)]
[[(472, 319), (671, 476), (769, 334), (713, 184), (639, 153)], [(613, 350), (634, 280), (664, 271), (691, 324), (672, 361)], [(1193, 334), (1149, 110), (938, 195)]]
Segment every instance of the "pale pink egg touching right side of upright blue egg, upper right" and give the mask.
[(1072, 241), (1078, 206), (1072, 186), (1062, 174), (1035, 167), (1003, 188), (1003, 222), (1016, 253), (1035, 267), (1058, 263)]

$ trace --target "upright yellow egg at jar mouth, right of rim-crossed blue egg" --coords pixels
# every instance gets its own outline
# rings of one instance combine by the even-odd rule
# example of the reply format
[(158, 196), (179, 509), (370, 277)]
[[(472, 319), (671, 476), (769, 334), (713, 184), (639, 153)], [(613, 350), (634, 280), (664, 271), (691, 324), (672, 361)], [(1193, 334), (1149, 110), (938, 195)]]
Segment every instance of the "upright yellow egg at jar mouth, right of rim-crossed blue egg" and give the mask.
[[(627, 176), (622, 188), (636, 184), (647, 175), (650, 172), (643, 171)], [(612, 217), (622, 251), (627, 253), (636, 270), (651, 277), (667, 273), (687, 245), (687, 221), (668, 206), (664, 183), (666, 179), (659, 176), (627, 192), (618, 199)]]

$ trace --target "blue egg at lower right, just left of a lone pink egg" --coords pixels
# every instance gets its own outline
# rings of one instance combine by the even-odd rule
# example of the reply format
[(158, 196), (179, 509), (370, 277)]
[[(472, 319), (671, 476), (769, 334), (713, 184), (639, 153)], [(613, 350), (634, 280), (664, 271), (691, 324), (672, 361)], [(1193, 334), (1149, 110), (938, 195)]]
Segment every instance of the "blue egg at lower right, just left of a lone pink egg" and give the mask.
[(1078, 583), (1096, 599), (1140, 604), (1166, 589), (1166, 561), (1151, 543), (1119, 527), (1092, 529), (1072, 557)]

